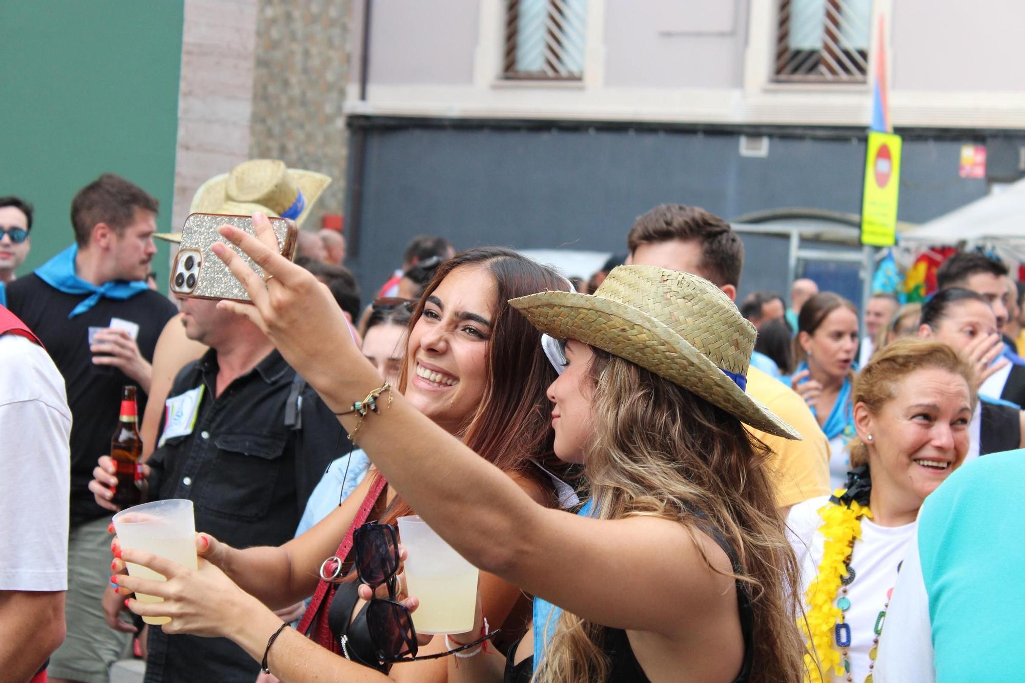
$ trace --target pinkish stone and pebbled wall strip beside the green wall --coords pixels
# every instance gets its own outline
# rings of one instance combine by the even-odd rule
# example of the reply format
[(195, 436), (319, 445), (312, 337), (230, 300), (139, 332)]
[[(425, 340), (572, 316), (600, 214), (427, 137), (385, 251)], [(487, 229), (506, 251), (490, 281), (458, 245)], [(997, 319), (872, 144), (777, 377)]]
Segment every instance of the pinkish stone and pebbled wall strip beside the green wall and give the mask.
[(246, 159), (334, 178), (306, 228), (342, 212), (350, 1), (186, 0), (175, 230), (200, 185)]

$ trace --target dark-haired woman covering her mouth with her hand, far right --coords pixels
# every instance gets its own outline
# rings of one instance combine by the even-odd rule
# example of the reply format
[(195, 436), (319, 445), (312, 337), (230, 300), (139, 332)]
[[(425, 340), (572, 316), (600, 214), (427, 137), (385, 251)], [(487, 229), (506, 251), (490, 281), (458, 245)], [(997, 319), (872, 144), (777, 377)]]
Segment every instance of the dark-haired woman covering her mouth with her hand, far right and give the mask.
[[(959, 351), (975, 368), (973, 393), (1010, 361), (1000, 358), (1003, 343), (989, 303), (971, 289), (951, 287), (937, 292), (921, 309), (918, 336)], [(995, 362), (994, 362), (995, 360)], [(979, 396), (969, 426), (965, 461), (979, 455), (1025, 447), (1025, 412), (1012, 403)]]

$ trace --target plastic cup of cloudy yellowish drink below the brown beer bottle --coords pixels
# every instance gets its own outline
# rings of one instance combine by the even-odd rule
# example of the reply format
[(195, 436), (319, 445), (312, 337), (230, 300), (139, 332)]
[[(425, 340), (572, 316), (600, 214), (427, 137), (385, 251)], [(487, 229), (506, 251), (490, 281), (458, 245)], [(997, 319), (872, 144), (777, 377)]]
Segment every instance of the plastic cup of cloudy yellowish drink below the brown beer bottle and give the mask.
[[(154, 500), (122, 510), (114, 516), (121, 548), (146, 551), (192, 569), (198, 567), (196, 559), (196, 518), (192, 500), (171, 498)], [(167, 577), (152, 569), (131, 562), (125, 563), (128, 573), (141, 578), (165, 581)], [(136, 593), (139, 602), (163, 602), (163, 598)], [(167, 624), (169, 616), (144, 616), (147, 624)]]

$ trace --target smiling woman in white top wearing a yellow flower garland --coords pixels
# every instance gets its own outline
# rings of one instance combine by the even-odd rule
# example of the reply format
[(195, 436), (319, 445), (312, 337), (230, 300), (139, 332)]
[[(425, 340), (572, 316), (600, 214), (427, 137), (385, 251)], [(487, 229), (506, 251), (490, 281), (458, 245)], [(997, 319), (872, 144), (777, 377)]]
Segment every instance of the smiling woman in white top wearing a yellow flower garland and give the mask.
[(904, 549), (926, 496), (965, 459), (974, 372), (945, 344), (903, 338), (858, 375), (850, 486), (794, 506), (813, 681), (870, 680)]

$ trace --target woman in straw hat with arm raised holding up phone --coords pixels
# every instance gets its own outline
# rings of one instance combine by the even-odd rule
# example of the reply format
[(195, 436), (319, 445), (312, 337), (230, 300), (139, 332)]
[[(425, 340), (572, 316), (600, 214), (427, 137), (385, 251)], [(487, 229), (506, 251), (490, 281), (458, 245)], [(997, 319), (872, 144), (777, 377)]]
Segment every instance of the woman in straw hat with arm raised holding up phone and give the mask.
[[(548, 390), (556, 452), (585, 465), (581, 515), (535, 504), (497, 468), (383, 384), (345, 342), (337, 308), (280, 257), (266, 220), (257, 238), (221, 234), (215, 252), (253, 306), (223, 310), (265, 330), (334, 407), (371, 460), (463, 557), (554, 608), (550, 643), (535, 643), (539, 681), (796, 681), (796, 564), (743, 425), (793, 430), (744, 393), (753, 327), (712, 284), (652, 267), (616, 269), (594, 295), (543, 292), (512, 302), (538, 329), (567, 339)], [(369, 392), (369, 394), (368, 394)], [(495, 538), (501, 538), (496, 544)], [(228, 636), (279, 678), (346, 673), (384, 680), (320, 650), (212, 565), (192, 571), (141, 552), (124, 559), (166, 575), (125, 577), (161, 604), (176, 631)], [(498, 657), (464, 653), (492, 666)], [(514, 655), (516, 656), (516, 655)]]

